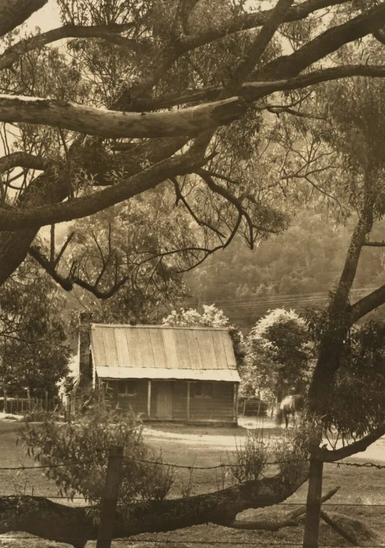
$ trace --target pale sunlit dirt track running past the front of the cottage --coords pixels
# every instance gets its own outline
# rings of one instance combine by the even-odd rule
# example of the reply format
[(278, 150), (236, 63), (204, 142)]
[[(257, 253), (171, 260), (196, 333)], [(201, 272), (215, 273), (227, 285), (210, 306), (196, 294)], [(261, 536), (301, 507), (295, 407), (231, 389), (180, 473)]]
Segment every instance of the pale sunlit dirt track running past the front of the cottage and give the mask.
[[(233, 450), (244, 442), (247, 432), (260, 429), (263, 437), (276, 438), (282, 432), (274, 421), (269, 419), (254, 419), (250, 417), (241, 417), (238, 421), (238, 427), (215, 427), (215, 426), (188, 426), (177, 424), (158, 424), (146, 426), (144, 428), (145, 438), (156, 439), (160, 442), (162, 439), (175, 439), (175, 442), (185, 443), (190, 446), (210, 446), (213, 449)], [(327, 440), (325, 439), (325, 443)], [(366, 451), (354, 455), (354, 460), (364, 460), (367, 462), (385, 463), (385, 436), (372, 443)]]

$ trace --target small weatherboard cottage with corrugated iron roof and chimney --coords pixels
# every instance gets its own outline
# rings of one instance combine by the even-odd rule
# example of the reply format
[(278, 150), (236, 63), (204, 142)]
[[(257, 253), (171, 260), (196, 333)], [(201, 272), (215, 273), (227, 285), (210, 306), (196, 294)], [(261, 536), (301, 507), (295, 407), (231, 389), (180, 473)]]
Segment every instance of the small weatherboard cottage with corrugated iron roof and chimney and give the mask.
[(237, 424), (239, 374), (227, 329), (91, 323), (81, 315), (80, 386), (103, 385), (145, 420)]

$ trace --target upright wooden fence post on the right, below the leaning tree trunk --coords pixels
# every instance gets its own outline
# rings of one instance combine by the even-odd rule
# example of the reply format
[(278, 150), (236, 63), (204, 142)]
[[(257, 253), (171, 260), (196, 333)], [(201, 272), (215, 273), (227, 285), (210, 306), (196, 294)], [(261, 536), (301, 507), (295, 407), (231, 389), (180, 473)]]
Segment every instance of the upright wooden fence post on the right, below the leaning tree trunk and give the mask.
[(310, 456), (309, 486), (306, 500), (303, 548), (318, 548), (323, 467), (324, 463), (321, 460), (314, 459)]

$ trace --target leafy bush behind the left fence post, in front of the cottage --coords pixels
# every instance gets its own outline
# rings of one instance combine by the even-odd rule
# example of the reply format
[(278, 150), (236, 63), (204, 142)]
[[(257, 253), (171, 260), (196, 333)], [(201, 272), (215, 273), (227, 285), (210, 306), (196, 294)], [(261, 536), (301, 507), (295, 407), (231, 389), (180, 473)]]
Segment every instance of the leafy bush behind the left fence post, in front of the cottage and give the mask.
[[(117, 414), (106, 402), (95, 402), (74, 423), (58, 423), (50, 416), (42, 425), (26, 423), (20, 435), (27, 454), (46, 465), (61, 496), (83, 495), (90, 503), (101, 499), (109, 450), (124, 447), (118, 504), (134, 499), (164, 499), (173, 485), (173, 472), (145, 446), (142, 425), (134, 413)], [(58, 466), (59, 465), (59, 466)]]

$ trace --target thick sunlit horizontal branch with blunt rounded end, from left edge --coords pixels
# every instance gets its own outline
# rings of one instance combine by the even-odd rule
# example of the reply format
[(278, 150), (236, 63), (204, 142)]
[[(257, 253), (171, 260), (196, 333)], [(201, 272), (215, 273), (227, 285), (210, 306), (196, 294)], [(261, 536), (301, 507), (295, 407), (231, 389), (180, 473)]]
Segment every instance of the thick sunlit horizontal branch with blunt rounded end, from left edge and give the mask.
[(107, 138), (195, 135), (246, 112), (239, 97), (172, 112), (116, 112), (71, 102), (0, 95), (0, 121), (45, 124)]

